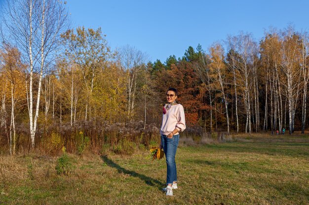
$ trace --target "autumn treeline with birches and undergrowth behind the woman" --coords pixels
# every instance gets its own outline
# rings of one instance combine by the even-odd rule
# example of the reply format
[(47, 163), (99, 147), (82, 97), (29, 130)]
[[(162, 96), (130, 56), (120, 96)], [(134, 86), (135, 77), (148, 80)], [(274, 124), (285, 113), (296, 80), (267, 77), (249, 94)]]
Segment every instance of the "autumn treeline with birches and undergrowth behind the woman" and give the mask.
[(182, 58), (148, 62), (134, 47), (111, 49), (100, 28), (69, 29), (67, 15), (57, 0), (6, 4), (1, 151), (148, 146), (158, 141), (169, 87), (179, 90), (185, 108), (184, 134), (282, 128), (292, 134), (308, 127), (307, 33), (288, 27), (256, 42), (240, 32), (207, 50), (190, 46)]

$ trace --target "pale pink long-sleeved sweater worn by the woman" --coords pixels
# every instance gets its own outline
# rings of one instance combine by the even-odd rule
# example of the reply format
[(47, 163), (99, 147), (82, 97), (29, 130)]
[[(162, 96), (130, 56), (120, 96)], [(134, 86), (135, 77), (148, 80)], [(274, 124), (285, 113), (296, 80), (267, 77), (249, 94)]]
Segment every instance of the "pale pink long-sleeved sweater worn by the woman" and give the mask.
[[(175, 128), (178, 131), (184, 131), (186, 129), (185, 111), (181, 104), (172, 105), (166, 114), (163, 114), (160, 134), (168, 135)], [(179, 133), (174, 133), (174, 135), (177, 134)]]

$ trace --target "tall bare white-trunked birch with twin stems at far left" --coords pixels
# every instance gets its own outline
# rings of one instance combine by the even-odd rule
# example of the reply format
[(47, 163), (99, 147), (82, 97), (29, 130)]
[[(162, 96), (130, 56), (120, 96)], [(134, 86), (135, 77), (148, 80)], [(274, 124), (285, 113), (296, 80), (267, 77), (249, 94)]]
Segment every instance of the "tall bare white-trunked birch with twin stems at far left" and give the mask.
[[(32, 147), (35, 146), (43, 70), (55, 58), (60, 45), (60, 33), (68, 28), (65, 3), (58, 0), (7, 0), (4, 6), (3, 41), (16, 46), (28, 65)], [(38, 79), (37, 90), (34, 90), (35, 76)]]

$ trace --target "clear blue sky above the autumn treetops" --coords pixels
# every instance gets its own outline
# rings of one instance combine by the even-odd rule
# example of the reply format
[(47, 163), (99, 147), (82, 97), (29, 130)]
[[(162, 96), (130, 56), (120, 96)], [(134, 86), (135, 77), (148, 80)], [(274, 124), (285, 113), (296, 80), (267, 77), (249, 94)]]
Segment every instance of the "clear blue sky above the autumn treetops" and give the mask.
[[(0, 0), (4, 1), (4, 0)], [(309, 0), (67, 0), (72, 26), (102, 28), (112, 49), (126, 44), (162, 62), (189, 46), (251, 32), (257, 41), (270, 26), (309, 31)]]

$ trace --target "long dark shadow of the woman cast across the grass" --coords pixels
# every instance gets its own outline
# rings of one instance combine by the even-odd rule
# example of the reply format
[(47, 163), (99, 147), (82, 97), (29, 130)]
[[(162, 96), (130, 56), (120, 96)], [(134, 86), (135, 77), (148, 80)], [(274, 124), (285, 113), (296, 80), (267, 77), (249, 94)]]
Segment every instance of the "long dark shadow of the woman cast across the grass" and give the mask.
[(126, 174), (126, 175), (130, 175), (130, 176), (134, 176), (134, 177), (138, 177), (140, 178), (141, 180), (145, 181), (145, 183), (147, 185), (150, 185), (150, 186), (157, 186), (158, 189), (161, 189), (162, 186), (165, 185), (165, 183), (157, 180), (157, 179), (154, 179), (154, 178), (151, 178), (149, 176), (145, 176), (145, 175), (142, 175), (142, 174), (139, 174), (137, 172), (134, 172), (134, 171), (130, 171), (130, 170), (126, 170), (125, 168), (121, 167), (120, 165), (116, 164), (115, 162), (113, 162), (111, 159), (109, 159), (107, 157), (107, 155), (105, 156), (101, 156), (102, 160), (110, 167), (112, 168), (116, 168), (116, 170), (118, 171), (118, 173), (123, 173), (123, 174)]

